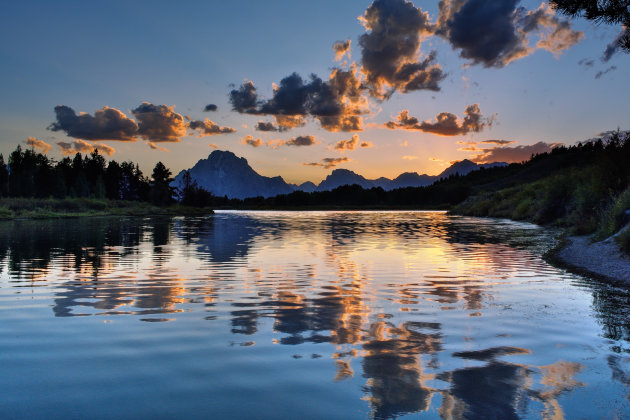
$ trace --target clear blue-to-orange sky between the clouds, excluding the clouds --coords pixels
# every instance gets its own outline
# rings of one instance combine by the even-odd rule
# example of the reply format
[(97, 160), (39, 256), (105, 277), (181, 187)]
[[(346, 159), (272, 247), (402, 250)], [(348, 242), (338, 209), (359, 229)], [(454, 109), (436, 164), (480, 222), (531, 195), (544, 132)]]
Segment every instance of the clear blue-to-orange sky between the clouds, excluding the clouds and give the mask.
[[(472, 1), (472, 0), (470, 0)], [(397, 0), (392, 4), (402, 2)], [(61, 1), (5, 2), (0, 9), (0, 152), (5, 157), (29, 137), (52, 147), (48, 155), (60, 159), (58, 142), (81, 140), (64, 130), (47, 127), (55, 121), (55, 106), (77, 112), (103, 107), (120, 110), (133, 118), (142, 102), (173, 107), (191, 120), (210, 119), (232, 133), (198, 137), (183, 135), (177, 142), (148, 140), (121, 142), (108, 139), (83, 141), (106, 144), (116, 151), (112, 158), (140, 163), (145, 173), (161, 160), (174, 172), (191, 167), (214, 146), (246, 157), (264, 175), (282, 175), (290, 182), (319, 181), (332, 166), (305, 166), (334, 158), (336, 167), (368, 177), (393, 177), (401, 172), (439, 173), (449, 162), (475, 158), (481, 148), (495, 147), (485, 140), (514, 141), (500, 147), (531, 146), (539, 142), (574, 143), (617, 127), (629, 129), (630, 56), (618, 53), (602, 62), (602, 52), (620, 28), (572, 21), (573, 31), (584, 36), (554, 56), (538, 49), (501, 67), (487, 67), (460, 57), (461, 49), (450, 38), (427, 36), (418, 50), (420, 58), (437, 52), (445, 78), (440, 91), (415, 90), (379, 100), (363, 92), (369, 114), (363, 114), (362, 131), (330, 131), (316, 118), (285, 132), (260, 132), (258, 121), (273, 122), (270, 114), (232, 111), (228, 94), (244, 81), (252, 81), (259, 98), (273, 96), (273, 83), (297, 72), (311, 73), (324, 81), (334, 61), (332, 46), (350, 39), (350, 59), (361, 67), (359, 37), (366, 28), (357, 19), (371, 1)], [(518, 6), (533, 11), (540, 2)], [(437, 1), (413, 5), (438, 18)], [(564, 19), (564, 17), (561, 17)], [(470, 34), (478, 36), (473, 29)], [(536, 40), (530, 40), (530, 46)], [(578, 64), (591, 59), (593, 64)], [(595, 75), (611, 67), (600, 78)], [(203, 112), (216, 104), (216, 112)], [(440, 136), (420, 130), (384, 127), (408, 110), (419, 121), (434, 122), (439, 113), (464, 118), (467, 106), (478, 104), (483, 118), (493, 123), (478, 131)], [(461, 122), (461, 121), (460, 121)], [(244, 144), (246, 136), (262, 145)], [(358, 135), (371, 147), (335, 149), (340, 140)], [(269, 147), (270, 140), (287, 141), (313, 136), (307, 147)], [(458, 144), (459, 143), (475, 143)], [(271, 145), (274, 143), (272, 142)], [(276, 143), (277, 144), (277, 143)], [(214, 145), (214, 146), (211, 146)], [(477, 151), (462, 151), (462, 148)], [(499, 147), (499, 146), (497, 146)], [(523, 149), (525, 150), (525, 149)], [(528, 149), (527, 149), (528, 150)], [(341, 162), (345, 159), (345, 162)]]

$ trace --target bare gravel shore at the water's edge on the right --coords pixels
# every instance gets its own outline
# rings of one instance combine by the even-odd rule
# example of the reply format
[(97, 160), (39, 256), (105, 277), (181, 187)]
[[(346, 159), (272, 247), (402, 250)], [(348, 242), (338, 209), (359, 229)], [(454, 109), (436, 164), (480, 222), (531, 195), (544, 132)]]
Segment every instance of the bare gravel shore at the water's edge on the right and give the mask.
[(591, 243), (588, 236), (571, 236), (554, 256), (567, 265), (630, 285), (630, 258), (613, 237)]

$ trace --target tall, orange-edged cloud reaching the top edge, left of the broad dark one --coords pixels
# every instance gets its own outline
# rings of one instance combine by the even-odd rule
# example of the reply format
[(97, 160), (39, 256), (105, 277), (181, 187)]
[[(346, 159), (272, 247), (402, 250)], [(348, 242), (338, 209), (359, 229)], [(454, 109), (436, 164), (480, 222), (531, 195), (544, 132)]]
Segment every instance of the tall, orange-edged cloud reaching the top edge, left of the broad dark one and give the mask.
[(376, 0), (359, 19), (367, 30), (359, 38), (361, 71), (374, 96), (440, 90), (446, 75), (435, 53), (420, 58), (421, 38), (434, 31), (426, 12), (404, 0)]

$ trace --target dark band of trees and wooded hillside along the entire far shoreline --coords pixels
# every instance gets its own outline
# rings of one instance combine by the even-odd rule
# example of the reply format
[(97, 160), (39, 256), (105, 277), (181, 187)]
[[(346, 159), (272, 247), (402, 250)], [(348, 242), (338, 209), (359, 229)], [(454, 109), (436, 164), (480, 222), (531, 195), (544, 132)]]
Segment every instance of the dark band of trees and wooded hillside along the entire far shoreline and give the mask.
[(630, 132), (620, 130), (574, 146), (559, 146), (521, 163), (390, 191), (346, 185), (332, 191), (230, 199), (199, 187), (187, 171), (181, 188), (174, 188), (171, 175), (161, 162), (150, 178), (133, 162), (106, 164), (96, 149), (55, 162), (18, 146), (8, 165), (0, 155), (0, 218), (199, 215), (211, 213), (211, 208), (448, 210), (560, 227), (569, 238), (566, 242), (573, 244), (567, 248), (573, 255), (565, 249), (558, 258), (570, 265), (589, 260), (593, 247), (602, 241), (623, 253), (618, 258), (604, 253), (601, 259), (611, 259), (604, 263), (611, 267), (630, 264)]

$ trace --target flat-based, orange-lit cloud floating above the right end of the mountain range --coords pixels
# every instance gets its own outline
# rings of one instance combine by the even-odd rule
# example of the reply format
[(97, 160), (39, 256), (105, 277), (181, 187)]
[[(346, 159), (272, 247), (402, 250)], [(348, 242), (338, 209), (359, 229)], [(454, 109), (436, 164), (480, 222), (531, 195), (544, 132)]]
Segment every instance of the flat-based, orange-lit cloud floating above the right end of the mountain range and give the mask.
[(470, 132), (478, 133), (491, 126), (493, 120), (485, 118), (481, 114), (479, 104), (468, 105), (464, 111), (464, 119), (450, 112), (441, 112), (435, 117), (435, 121), (420, 122), (416, 117), (410, 117), (409, 111), (400, 112), (396, 121), (389, 121), (385, 126), (389, 129), (418, 130), (425, 133), (433, 133), (439, 136), (458, 136)]

